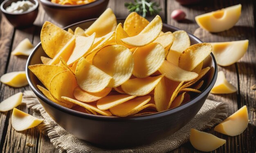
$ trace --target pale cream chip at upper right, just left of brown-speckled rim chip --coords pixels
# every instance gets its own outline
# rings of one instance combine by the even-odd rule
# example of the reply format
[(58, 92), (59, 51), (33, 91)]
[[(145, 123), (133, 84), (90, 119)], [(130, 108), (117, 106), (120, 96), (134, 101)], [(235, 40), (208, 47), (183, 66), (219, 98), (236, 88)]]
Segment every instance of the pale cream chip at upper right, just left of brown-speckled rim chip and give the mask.
[(173, 36), (174, 41), (173, 45), (171, 46), (171, 50), (182, 53), (186, 48), (190, 46), (189, 35), (186, 33), (186, 31), (175, 31), (173, 32)]

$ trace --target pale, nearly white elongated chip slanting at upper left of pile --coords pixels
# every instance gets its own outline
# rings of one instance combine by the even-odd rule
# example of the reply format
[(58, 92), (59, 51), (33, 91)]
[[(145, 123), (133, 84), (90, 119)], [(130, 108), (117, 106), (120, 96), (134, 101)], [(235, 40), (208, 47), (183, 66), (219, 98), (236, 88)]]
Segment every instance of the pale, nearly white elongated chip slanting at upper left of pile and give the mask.
[(95, 39), (95, 33), (89, 37), (76, 36), (74, 50), (67, 61), (67, 65), (70, 66), (74, 62), (78, 61), (81, 57), (85, 56), (88, 53), (89, 49), (92, 47), (92, 44)]

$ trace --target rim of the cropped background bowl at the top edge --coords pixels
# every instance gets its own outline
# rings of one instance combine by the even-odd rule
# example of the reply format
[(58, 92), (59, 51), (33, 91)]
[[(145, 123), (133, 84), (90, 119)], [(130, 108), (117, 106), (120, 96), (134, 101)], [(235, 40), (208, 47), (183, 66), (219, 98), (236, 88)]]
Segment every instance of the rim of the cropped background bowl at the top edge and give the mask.
[(50, 6), (50, 7), (56, 7), (56, 8), (63, 8), (63, 9), (78, 9), (78, 8), (84, 8), (84, 7), (94, 7), (102, 2), (105, 2), (106, 0), (95, 0), (94, 2), (90, 2), (88, 4), (75, 4), (75, 5), (63, 5), (63, 4), (57, 4), (57, 3), (53, 3), (49, 0), (39, 0), (41, 3), (43, 3), (44, 5)]

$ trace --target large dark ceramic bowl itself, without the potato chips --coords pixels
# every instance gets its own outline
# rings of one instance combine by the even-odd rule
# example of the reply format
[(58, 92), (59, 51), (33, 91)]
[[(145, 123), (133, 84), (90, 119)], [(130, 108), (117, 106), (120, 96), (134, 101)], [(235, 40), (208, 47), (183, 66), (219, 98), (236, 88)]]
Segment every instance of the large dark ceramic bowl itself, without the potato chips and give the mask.
[[(67, 26), (73, 30), (76, 26), (88, 28), (95, 19), (78, 22)], [(117, 22), (124, 22), (123, 19)], [(165, 31), (180, 30), (168, 24), (163, 24)], [(189, 33), (191, 44), (202, 43), (200, 39)], [(29, 86), (38, 97), (45, 111), (65, 130), (77, 138), (86, 140), (97, 146), (120, 148), (148, 144), (181, 129), (200, 110), (217, 78), (217, 65), (213, 54), (204, 60), (204, 67), (211, 69), (204, 77), (206, 85), (202, 92), (188, 103), (167, 111), (142, 116), (96, 116), (81, 113), (58, 105), (46, 98), (36, 87), (40, 81), (27, 68), (30, 65), (41, 63), (40, 56), (47, 56), (39, 43), (27, 60), (26, 73)]]

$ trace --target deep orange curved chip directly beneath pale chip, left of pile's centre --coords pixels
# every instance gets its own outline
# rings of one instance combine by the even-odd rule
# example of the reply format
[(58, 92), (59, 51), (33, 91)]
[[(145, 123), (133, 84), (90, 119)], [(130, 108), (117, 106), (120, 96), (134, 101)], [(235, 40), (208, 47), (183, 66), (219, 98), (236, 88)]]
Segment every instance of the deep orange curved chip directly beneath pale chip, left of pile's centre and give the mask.
[(82, 90), (80, 87), (76, 87), (74, 89), (74, 97), (81, 102), (90, 103), (97, 101), (105, 96), (107, 96), (111, 91), (111, 88), (106, 87), (105, 89), (101, 90), (100, 92), (86, 92)]

